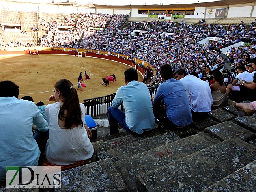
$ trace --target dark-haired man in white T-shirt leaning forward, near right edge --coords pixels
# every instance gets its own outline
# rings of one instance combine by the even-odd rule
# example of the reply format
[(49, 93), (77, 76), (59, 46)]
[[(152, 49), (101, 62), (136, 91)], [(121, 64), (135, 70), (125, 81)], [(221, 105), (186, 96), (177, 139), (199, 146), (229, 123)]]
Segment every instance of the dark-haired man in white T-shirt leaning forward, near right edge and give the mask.
[(239, 65), (236, 68), (236, 71), (237, 71), (238, 75), (235, 77), (232, 84), (229, 84), (227, 86), (227, 94), (229, 94), (230, 91), (240, 91), (239, 79), (245, 80), (245, 81), (252, 81), (253, 80), (253, 76), (249, 72), (246, 71), (245, 66)]

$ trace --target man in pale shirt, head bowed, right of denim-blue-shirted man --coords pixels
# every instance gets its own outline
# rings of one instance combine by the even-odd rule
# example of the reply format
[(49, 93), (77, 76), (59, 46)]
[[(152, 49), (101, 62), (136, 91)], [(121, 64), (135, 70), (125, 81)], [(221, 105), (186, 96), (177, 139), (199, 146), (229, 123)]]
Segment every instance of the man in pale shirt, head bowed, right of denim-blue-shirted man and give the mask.
[(212, 103), (203, 82), (193, 75), (187, 75), (184, 69), (175, 71), (174, 78), (183, 82), (186, 88), (193, 121), (206, 118)]

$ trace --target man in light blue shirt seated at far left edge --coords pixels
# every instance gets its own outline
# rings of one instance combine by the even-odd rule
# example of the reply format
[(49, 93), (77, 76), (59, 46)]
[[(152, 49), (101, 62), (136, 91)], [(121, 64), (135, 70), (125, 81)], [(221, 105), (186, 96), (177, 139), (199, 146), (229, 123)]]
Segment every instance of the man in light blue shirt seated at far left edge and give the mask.
[(31, 101), (19, 100), (19, 86), (0, 82), (0, 181), (6, 179), (6, 166), (37, 166), (40, 151), (33, 138), (32, 125), (47, 131), (48, 124)]

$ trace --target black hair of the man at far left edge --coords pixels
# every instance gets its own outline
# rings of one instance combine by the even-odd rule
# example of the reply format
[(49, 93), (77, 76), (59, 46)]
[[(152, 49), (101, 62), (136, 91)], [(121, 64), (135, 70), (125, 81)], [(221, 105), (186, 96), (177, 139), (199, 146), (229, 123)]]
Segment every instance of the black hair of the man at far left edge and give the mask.
[(20, 88), (12, 81), (0, 82), (0, 97), (16, 97), (18, 98)]

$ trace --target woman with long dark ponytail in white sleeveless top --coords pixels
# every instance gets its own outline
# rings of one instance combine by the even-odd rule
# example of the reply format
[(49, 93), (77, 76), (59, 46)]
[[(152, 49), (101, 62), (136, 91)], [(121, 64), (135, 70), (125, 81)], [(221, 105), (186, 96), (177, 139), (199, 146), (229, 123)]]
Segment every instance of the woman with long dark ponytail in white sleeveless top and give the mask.
[(88, 137), (92, 133), (84, 121), (85, 106), (79, 103), (77, 90), (67, 79), (54, 84), (55, 101), (45, 108), (49, 126), (46, 159), (56, 165), (69, 165), (92, 157), (94, 149)]

